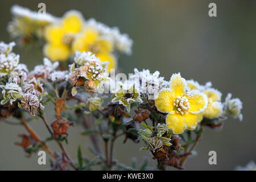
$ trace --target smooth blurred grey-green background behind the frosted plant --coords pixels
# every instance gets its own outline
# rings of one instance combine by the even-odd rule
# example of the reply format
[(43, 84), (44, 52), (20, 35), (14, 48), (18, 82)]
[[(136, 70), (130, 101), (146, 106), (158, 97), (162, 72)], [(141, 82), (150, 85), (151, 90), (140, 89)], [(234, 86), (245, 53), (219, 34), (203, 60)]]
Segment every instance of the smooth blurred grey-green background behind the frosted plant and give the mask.
[[(189, 159), (186, 169), (193, 170), (233, 170), (256, 159), (256, 1), (0, 1), (0, 40), (9, 42), (6, 31), (11, 20), (10, 8), (14, 4), (37, 10), (38, 3), (46, 3), (47, 12), (62, 16), (65, 11), (76, 9), (85, 18), (117, 26), (134, 40), (133, 55), (122, 55), (119, 67), (124, 73), (132, 73), (134, 68), (160, 71), (167, 79), (172, 73), (181, 72), (185, 78), (194, 78), (201, 84), (212, 81), (214, 88), (221, 90), (224, 100), (228, 92), (243, 102), (243, 122), (228, 119), (224, 129), (207, 129), (199, 146), (198, 155)], [(217, 17), (208, 16), (210, 2), (217, 4)], [(42, 52), (31, 49), (20, 53), (22, 63), (32, 69), (42, 63)], [(46, 112), (51, 121), (54, 113)], [(39, 135), (46, 137), (43, 123), (35, 121), (32, 127)], [(0, 122), (0, 169), (1, 170), (42, 170), (49, 166), (39, 166), (37, 156), (26, 158), (22, 148), (15, 146), (18, 133), (24, 133), (21, 126), (11, 126)], [(82, 127), (69, 129), (67, 150), (76, 158), (79, 144), (85, 155), (90, 156), (88, 138), (81, 137)], [(115, 158), (121, 163), (130, 163), (136, 156), (141, 162), (151, 158), (148, 151), (139, 151), (141, 144), (118, 140)], [(51, 147), (57, 148), (51, 143)], [(208, 164), (208, 152), (217, 152), (217, 165)], [(154, 165), (156, 162), (150, 160)], [(48, 161), (47, 161), (48, 162)], [(172, 169), (172, 168), (170, 168)]]

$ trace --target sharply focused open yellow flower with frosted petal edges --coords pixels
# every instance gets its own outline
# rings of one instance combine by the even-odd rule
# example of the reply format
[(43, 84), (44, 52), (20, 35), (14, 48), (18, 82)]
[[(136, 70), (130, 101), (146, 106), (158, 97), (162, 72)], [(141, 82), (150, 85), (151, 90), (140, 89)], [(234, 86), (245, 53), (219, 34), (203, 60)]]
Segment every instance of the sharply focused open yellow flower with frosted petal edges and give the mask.
[(186, 92), (187, 82), (180, 73), (172, 75), (170, 84), (170, 89), (164, 89), (156, 96), (156, 108), (168, 113), (166, 126), (174, 134), (183, 133), (185, 129), (195, 130), (198, 115), (207, 107), (207, 96), (199, 90)]

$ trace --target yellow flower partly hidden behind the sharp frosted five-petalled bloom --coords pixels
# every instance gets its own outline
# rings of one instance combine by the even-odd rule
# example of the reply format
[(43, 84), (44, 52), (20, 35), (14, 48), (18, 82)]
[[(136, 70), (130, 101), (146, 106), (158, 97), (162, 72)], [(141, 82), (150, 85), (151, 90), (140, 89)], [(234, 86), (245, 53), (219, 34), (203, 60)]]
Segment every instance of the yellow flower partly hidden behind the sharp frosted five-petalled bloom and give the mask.
[[(203, 120), (203, 117), (212, 119), (220, 116), (220, 114), (222, 113), (220, 91), (213, 88), (208, 88), (208, 86), (202, 86), (198, 82), (193, 80), (188, 80), (187, 84), (191, 90), (194, 90), (194, 89), (201, 90), (201, 92), (205, 93), (208, 97), (208, 101), (209, 101), (208, 106), (203, 111), (203, 113), (199, 114), (198, 122), (201, 122)], [(211, 85), (211, 84), (208, 84), (208, 85)]]

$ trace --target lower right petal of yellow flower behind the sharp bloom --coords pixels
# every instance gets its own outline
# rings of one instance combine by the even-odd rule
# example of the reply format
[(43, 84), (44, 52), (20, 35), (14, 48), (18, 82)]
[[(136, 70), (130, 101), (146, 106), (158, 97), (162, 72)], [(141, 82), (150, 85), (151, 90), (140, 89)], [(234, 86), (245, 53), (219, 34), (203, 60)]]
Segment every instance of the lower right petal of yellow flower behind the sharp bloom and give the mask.
[(212, 102), (212, 101), (209, 101), (209, 104), (207, 106), (207, 109), (205, 109), (203, 111), (203, 114), (204, 114), (204, 117), (207, 117), (207, 118), (217, 118), (220, 116), (222, 112), (222, 104), (221, 102)]

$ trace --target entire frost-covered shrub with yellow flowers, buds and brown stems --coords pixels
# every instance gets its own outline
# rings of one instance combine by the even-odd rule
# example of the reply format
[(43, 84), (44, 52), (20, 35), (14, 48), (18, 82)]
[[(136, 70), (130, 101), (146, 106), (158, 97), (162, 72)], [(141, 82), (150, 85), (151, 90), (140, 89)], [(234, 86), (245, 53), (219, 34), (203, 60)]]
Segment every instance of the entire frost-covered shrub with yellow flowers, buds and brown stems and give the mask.
[[(121, 136), (123, 143), (130, 139), (150, 151), (158, 169), (183, 169), (205, 127), (220, 130), (229, 115), (242, 121), (240, 99), (228, 94), (223, 101), (210, 82), (200, 85), (180, 73), (164, 78), (148, 69), (134, 69), (129, 79), (115, 80), (109, 73), (117, 68), (117, 55), (130, 54), (133, 44), (116, 27), (86, 20), (75, 10), (57, 18), (15, 5), (11, 13), (11, 36), (20, 46), (41, 46), (46, 57), (28, 71), (13, 52), (15, 43), (0, 43), (0, 119), (18, 119), (27, 133), (20, 134), (22, 142), (16, 144), (28, 156), (39, 148), (47, 151), (53, 170), (156, 169), (146, 162), (141, 166), (118, 163), (113, 151)], [(45, 117), (49, 105), (55, 106), (54, 121)], [(40, 138), (28, 124), (35, 119), (42, 120), (48, 138)], [(68, 155), (63, 143), (68, 143), (72, 135), (68, 128), (75, 123), (85, 127), (82, 135), (90, 135), (89, 150), (96, 158), (86, 158), (81, 147), (77, 159)], [(51, 140), (60, 146), (59, 152), (49, 148)]]

